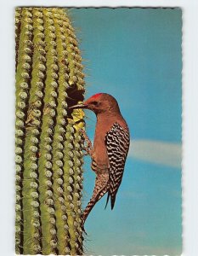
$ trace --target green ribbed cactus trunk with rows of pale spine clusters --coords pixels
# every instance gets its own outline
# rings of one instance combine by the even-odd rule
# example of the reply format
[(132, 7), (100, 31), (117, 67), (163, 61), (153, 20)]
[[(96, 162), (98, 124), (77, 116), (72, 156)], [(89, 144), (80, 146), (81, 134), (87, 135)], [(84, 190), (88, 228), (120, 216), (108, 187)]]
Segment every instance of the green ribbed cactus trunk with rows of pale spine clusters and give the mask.
[(82, 58), (66, 10), (17, 8), (15, 251), (82, 255)]

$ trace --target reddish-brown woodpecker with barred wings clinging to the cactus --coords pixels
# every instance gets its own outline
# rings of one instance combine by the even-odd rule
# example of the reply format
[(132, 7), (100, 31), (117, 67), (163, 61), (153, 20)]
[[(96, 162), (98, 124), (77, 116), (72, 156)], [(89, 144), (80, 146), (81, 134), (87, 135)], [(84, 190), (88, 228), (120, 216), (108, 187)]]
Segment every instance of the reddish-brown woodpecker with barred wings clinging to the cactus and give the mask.
[(86, 150), (92, 159), (91, 168), (96, 174), (93, 196), (82, 214), (84, 223), (96, 202), (106, 193), (108, 193), (106, 206), (110, 198), (111, 210), (114, 208), (116, 193), (122, 182), (130, 136), (118, 103), (109, 94), (97, 93), (87, 101), (71, 108), (90, 109), (97, 118), (93, 146), (88, 136), (82, 131), (85, 142), (88, 144)]

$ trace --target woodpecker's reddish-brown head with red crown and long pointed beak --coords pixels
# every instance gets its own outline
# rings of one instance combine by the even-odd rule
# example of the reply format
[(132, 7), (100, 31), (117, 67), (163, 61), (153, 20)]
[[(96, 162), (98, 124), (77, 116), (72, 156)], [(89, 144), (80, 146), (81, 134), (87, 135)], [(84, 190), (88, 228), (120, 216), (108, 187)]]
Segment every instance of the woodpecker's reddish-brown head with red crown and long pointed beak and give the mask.
[(71, 106), (71, 109), (76, 108), (87, 108), (96, 114), (106, 112), (114, 113), (117, 111), (120, 112), (116, 99), (107, 93), (97, 93), (88, 98), (87, 101), (75, 106)]

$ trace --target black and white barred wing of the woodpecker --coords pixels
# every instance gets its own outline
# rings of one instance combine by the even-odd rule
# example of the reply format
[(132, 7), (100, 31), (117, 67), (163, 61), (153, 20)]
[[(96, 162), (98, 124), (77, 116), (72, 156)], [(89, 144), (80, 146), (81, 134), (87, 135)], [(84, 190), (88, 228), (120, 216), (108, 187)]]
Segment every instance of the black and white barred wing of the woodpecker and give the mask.
[(122, 182), (125, 161), (130, 144), (130, 137), (127, 128), (115, 123), (105, 136), (105, 145), (110, 161), (109, 167), (109, 191), (106, 201), (110, 198), (111, 210), (116, 201), (116, 193)]

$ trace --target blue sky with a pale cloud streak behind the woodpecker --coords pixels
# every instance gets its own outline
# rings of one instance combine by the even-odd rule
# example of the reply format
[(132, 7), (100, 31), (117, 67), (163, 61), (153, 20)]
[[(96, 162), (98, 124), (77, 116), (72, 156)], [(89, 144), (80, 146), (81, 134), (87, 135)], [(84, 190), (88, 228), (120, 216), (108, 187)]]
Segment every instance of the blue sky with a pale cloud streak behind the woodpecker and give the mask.
[[(86, 98), (115, 96), (132, 143), (113, 211), (88, 216), (87, 254), (178, 255), (181, 227), (180, 9), (71, 9), (87, 74)], [(86, 112), (88, 136), (95, 116)], [(84, 206), (94, 174), (85, 162)]]

